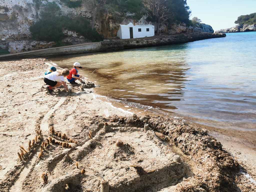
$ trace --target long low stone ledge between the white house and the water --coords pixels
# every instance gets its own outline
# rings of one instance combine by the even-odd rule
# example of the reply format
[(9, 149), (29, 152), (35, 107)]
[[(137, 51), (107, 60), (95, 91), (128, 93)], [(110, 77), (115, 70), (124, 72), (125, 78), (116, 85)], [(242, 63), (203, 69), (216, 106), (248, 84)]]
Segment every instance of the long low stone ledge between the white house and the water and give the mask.
[(186, 32), (173, 35), (161, 35), (136, 39), (106, 39), (101, 42), (84, 43), (64, 47), (54, 47), (48, 49), (39, 49), (25, 51), (14, 54), (0, 55), (0, 60), (20, 59), (20, 58), (38, 58), (49, 56), (61, 56), (70, 54), (111, 52), (124, 49), (133, 49), (141, 47), (154, 47), (163, 45), (183, 44), (187, 42), (199, 41), (204, 39), (226, 37), (225, 33), (202, 33)]

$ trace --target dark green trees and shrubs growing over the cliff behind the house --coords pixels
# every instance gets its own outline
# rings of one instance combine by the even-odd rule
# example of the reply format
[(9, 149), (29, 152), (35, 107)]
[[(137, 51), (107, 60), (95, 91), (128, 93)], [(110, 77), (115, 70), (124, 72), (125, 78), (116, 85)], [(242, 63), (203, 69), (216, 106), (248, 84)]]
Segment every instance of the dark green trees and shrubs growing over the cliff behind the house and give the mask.
[[(91, 41), (100, 41), (103, 37), (95, 29), (96, 21), (101, 21), (101, 26), (108, 23), (121, 23), (125, 19), (140, 20), (147, 15), (147, 20), (157, 24), (157, 34), (164, 22), (169, 26), (174, 23), (189, 24), (190, 10), (186, 0), (88, 0), (91, 7), (91, 17), (85, 18), (78, 15), (61, 15), (60, 6), (55, 3), (41, 4), (41, 0), (34, 0), (40, 7), (40, 17), (30, 27), (32, 37), (38, 40), (61, 42), (65, 35), (63, 29), (76, 31)], [(82, 6), (83, 0), (60, 0), (70, 8)], [(38, 9), (39, 10), (39, 9)], [(106, 18), (106, 16), (108, 18)], [(108, 21), (111, 19), (112, 21)], [(104, 30), (109, 30), (108, 26)]]

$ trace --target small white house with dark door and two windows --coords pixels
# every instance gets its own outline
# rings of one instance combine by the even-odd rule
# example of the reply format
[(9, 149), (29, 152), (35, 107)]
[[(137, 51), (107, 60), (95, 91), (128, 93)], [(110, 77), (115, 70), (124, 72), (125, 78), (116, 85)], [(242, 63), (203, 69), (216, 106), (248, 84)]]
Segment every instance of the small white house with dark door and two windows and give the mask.
[(152, 37), (155, 35), (154, 25), (120, 25), (117, 36), (120, 39)]

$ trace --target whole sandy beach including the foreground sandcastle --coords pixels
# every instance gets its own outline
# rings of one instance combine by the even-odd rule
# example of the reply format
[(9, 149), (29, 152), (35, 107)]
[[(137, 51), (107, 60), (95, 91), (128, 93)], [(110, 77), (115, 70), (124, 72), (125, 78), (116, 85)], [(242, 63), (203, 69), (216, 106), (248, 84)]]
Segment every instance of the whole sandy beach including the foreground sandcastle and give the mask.
[[(0, 62), (3, 191), (99, 191), (102, 180), (109, 181), (111, 191), (228, 191), (230, 187), (255, 191), (255, 149), (244, 150), (232, 135), (216, 130), (209, 129), (210, 135), (222, 146), (200, 127), (161, 117), (140, 119), (96, 98), (93, 89), (81, 91), (79, 86), (68, 84), (71, 94), (64, 88), (48, 94), (42, 88), (48, 67), (45, 62), (41, 58)], [(109, 123), (109, 129), (104, 122)], [(145, 122), (153, 130), (143, 131)], [(38, 125), (40, 139), (20, 161), (19, 146), (28, 149)], [(52, 135), (51, 126), (77, 144)], [(71, 148), (50, 143), (38, 158), (40, 145), (49, 136)], [(118, 140), (125, 145), (116, 146)], [(177, 154), (180, 163), (173, 159)], [(141, 176), (131, 165), (150, 174)], [(40, 179), (42, 172), (48, 173), (48, 184)], [(209, 180), (211, 177), (214, 179)]]

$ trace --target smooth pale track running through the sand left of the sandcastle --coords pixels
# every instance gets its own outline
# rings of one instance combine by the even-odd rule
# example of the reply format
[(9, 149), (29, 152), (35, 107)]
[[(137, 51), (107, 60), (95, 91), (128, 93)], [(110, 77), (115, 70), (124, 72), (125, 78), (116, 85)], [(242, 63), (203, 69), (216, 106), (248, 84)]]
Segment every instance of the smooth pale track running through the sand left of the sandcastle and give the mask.
[[(40, 128), (42, 130), (42, 135), (43, 137), (48, 137), (47, 131), (48, 131), (48, 119), (50, 118), (51, 114), (54, 113), (60, 105), (62, 105), (66, 100), (66, 97), (61, 98), (58, 103), (50, 109), (45, 115), (44, 118), (42, 119), (40, 123)], [(25, 165), (24, 169), (19, 175), (19, 178), (17, 181), (14, 183), (14, 185), (10, 188), (10, 192), (17, 192), (17, 191), (22, 191), (22, 183), (23, 180), (26, 178), (28, 173), (30, 172), (32, 165), (36, 162), (36, 159), (40, 153), (40, 148), (38, 147), (36, 154), (31, 158), (28, 163)]]

